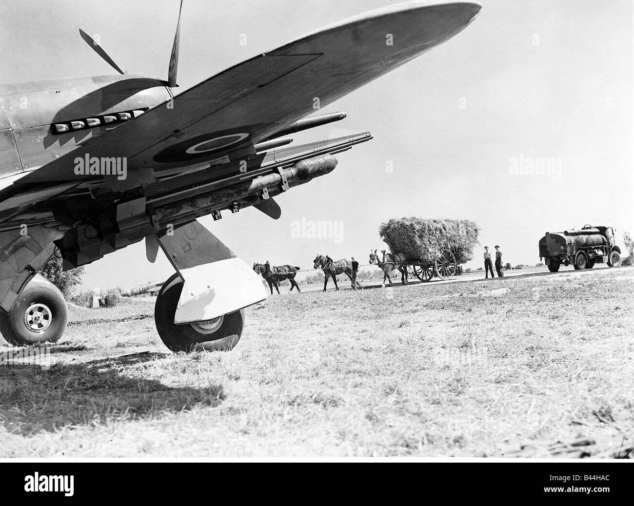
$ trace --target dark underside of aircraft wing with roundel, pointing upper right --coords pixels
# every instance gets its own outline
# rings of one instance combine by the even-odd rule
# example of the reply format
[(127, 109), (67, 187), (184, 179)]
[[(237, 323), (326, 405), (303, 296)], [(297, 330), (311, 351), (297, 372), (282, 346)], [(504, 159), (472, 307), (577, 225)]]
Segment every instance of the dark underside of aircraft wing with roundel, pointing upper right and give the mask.
[(252, 155), (276, 131), (450, 39), (480, 8), (416, 0), (349, 18), (231, 67), (14, 185), (76, 181), (73, 160), (84, 153), (126, 157), (128, 178)]

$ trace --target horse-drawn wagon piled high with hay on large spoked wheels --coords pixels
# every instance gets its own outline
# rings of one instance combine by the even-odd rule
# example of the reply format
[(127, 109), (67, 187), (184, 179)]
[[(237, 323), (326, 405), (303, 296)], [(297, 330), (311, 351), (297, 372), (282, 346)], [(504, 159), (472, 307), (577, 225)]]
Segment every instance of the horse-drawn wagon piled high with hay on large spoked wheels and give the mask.
[(381, 225), (379, 233), (401, 265), (422, 282), (447, 280), (472, 258), (477, 226), (467, 220), (402, 218)]

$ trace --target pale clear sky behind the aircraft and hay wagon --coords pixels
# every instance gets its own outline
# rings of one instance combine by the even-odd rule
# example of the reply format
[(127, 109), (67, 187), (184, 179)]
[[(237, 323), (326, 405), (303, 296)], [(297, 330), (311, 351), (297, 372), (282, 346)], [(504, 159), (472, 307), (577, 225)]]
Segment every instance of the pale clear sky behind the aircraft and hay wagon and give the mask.
[[(185, 0), (180, 89), (389, 3)], [(368, 263), (370, 250), (385, 249), (378, 227), (391, 217), (475, 221), (481, 245), (465, 268), (479, 267), (482, 247), (495, 244), (505, 263), (536, 264), (546, 231), (586, 223), (634, 231), (631, 1), (481, 3), (450, 41), (320, 110), (347, 119), (294, 135), (295, 144), (365, 131), (374, 139), (337, 155), (331, 174), (277, 197), (280, 219), (250, 208), (200, 221), (249, 265), (304, 269), (317, 254)], [(80, 28), (98, 34), (129, 74), (167, 78), (178, 0), (0, 4), (0, 82), (112, 74)], [(553, 169), (514, 170), (539, 159)], [(302, 237), (302, 220), (337, 233)], [(119, 250), (87, 266), (83, 285), (166, 279), (173, 269), (159, 255), (148, 263), (143, 242)]]

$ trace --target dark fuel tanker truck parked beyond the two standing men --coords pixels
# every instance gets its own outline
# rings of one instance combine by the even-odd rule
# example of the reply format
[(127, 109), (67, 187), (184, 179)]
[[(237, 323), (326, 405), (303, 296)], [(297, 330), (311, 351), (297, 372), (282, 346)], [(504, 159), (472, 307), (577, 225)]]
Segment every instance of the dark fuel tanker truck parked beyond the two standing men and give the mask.
[(576, 270), (592, 269), (595, 263), (604, 262), (618, 267), (621, 249), (615, 243), (612, 227), (585, 225), (581, 230), (547, 232), (540, 239), (542, 258), (550, 272), (559, 271), (561, 264), (573, 264)]

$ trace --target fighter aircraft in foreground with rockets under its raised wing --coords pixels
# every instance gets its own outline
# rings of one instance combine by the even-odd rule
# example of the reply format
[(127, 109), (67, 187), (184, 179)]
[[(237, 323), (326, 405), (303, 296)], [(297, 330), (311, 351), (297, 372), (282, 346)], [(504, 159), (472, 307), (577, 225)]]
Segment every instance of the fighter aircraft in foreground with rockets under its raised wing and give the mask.
[[(16, 344), (55, 342), (63, 296), (37, 271), (65, 269), (145, 238), (176, 273), (155, 305), (172, 351), (230, 349), (243, 309), (266, 298), (254, 271), (197, 218), (254, 206), (337, 165), (359, 133), (281, 148), (288, 136), (346, 117), (311, 116), (463, 30), (473, 2), (410, 1), (363, 13), (255, 56), (176, 96), (180, 23), (167, 81), (119, 74), (0, 85), (0, 333)], [(26, 56), (26, 55), (25, 55)], [(404, 97), (412, 103), (415, 97)], [(280, 149), (276, 149), (280, 148)]]

